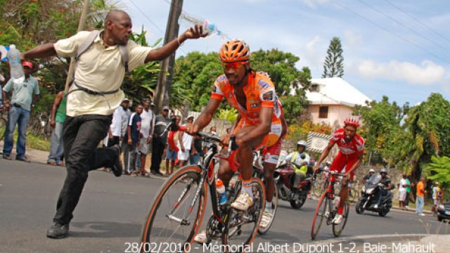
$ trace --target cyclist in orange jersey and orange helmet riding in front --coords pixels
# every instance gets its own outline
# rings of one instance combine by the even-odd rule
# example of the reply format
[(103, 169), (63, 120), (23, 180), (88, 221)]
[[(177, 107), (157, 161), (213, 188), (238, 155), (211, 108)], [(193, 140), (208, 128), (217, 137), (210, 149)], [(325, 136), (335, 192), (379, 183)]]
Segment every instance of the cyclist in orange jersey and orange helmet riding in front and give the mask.
[[(250, 47), (245, 41), (233, 39), (224, 43), (219, 51), (219, 60), (224, 67), (224, 74), (217, 77), (205, 110), (187, 131), (188, 134), (195, 134), (205, 128), (211, 122), (223, 98), (226, 98), (231, 107), (238, 110), (240, 120), (231, 132), (236, 135), (236, 143), (239, 145), (236, 160), (240, 164), (243, 188), (236, 200), (231, 203), (231, 207), (246, 211), (253, 203), (251, 187), (253, 150), (263, 146), (270, 148), (279, 143), (283, 131), (281, 103), (278, 101), (271, 79), (266, 74), (255, 72), (250, 68)], [(280, 151), (281, 146), (274, 148), (274, 152), (269, 156), (278, 157)], [(278, 158), (276, 161), (278, 162)], [(229, 163), (222, 160), (218, 176), (226, 186), (233, 174)], [(205, 241), (200, 240), (204, 239), (200, 234), (195, 237), (196, 242)]]

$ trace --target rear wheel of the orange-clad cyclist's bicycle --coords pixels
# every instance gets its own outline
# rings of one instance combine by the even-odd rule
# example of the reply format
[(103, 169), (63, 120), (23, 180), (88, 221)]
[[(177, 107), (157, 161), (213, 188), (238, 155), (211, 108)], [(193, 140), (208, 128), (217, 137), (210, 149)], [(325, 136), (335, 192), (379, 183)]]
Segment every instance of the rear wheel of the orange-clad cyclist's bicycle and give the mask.
[(266, 205), (266, 189), (260, 179), (252, 179), (253, 205), (247, 212), (230, 209), (222, 243), (225, 253), (248, 252), (257, 235)]

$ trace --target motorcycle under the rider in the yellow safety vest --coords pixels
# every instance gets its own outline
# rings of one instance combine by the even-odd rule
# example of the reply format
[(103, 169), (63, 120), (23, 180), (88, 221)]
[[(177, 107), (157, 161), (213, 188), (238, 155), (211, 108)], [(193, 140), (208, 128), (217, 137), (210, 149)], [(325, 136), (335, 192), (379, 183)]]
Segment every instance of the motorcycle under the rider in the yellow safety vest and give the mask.
[[(304, 159), (305, 155), (302, 154), (300, 157)], [(292, 164), (295, 167), (302, 166), (295, 163)], [(312, 171), (312, 165), (314, 164), (305, 164), (303, 166), (307, 166), (308, 171)], [(306, 178), (300, 182), (298, 188), (294, 188), (295, 169), (293, 166), (291, 166), (291, 164), (282, 162), (275, 169), (274, 179), (276, 190), (278, 190), (278, 197), (281, 200), (290, 202), (291, 207), (300, 209), (300, 207), (302, 207), (304, 205), (304, 202), (306, 202), (307, 200), (307, 194), (309, 193), (309, 190), (311, 190), (311, 176), (306, 176)]]

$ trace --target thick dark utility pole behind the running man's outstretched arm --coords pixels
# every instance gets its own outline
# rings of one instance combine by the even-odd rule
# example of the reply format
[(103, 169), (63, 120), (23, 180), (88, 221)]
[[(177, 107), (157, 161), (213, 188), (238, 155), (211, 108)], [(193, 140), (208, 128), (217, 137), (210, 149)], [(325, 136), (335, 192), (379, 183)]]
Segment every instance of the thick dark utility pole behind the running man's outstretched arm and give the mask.
[[(167, 19), (166, 34), (164, 44), (178, 37), (178, 19), (183, 8), (183, 0), (172, 0), (170, 4), (169, 18)], [(175, 52), (161, 62), (161, 69), (158, 75), (158, 86), (155, 95), (155, 112), (159, 113), (163, 105), (169, 105), (169, 92), (172, 86), (172, 74), (174, 72)]]

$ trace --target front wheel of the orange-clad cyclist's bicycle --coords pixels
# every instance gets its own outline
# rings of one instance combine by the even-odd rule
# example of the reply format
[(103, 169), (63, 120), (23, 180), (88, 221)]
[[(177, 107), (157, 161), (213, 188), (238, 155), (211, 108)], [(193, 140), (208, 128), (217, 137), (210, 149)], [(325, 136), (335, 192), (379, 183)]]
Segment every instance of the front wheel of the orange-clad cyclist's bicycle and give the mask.
[[(206, 181), (199, 186), (201, 171), (198, 166), (183, 167), (162, 185), (143, 226), (144, 246), (149, 245), (146, 242), (169, 242), (181, 245), (174, 252), (190, 252), (188, 247), (200, 229), (207, 202)], [(148, 252), (147, 249), (141, 251)]]

